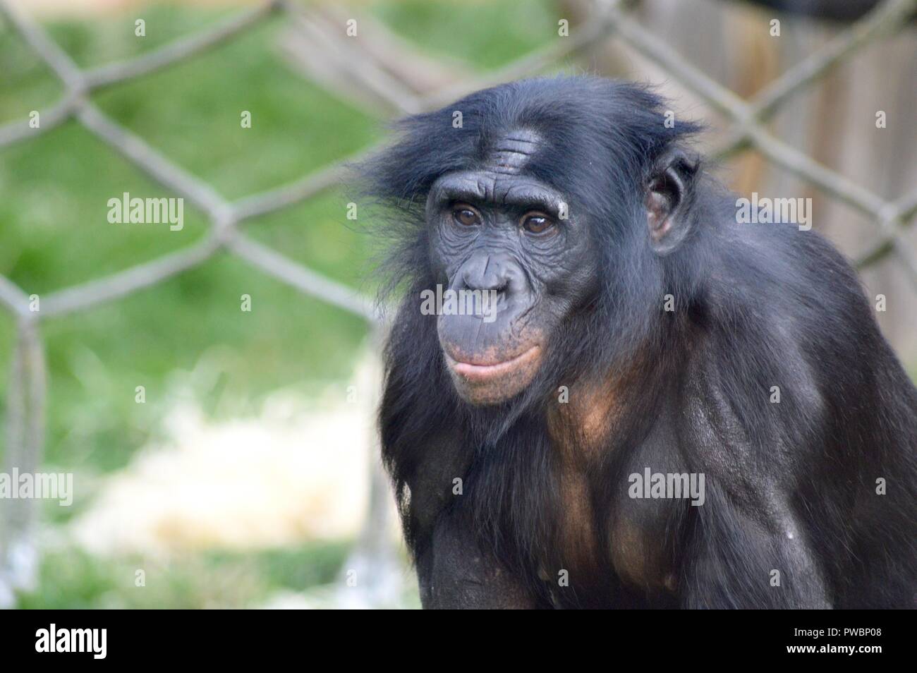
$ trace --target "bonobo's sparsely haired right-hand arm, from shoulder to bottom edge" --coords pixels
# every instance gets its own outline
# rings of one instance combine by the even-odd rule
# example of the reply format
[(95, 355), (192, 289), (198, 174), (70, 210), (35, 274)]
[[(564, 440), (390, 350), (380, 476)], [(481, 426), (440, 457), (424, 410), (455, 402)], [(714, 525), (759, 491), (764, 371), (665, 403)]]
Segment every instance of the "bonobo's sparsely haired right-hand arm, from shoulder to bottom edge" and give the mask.
[(824, 568), (793, 511), (793, 474), (806, 447), (781, 446), (778, 432), (755, 435), (716, 384), (691, 399), (692, 471), (705, 477), (705, 500), (690, 507), (681, 573), (686, 608), (832, 607)]

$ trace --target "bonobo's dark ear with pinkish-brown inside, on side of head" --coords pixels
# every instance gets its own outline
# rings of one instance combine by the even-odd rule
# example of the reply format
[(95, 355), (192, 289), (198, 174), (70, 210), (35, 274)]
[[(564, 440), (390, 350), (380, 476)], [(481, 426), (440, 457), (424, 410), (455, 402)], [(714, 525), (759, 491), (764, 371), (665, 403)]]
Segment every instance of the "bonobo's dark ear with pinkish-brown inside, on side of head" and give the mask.
[(680, 149), (670, 149), (656, 162), (646, 182), (646, 225), (650, 245), (659, 255), (668, 255), (688, 235), (688, 205), (699, 162)]

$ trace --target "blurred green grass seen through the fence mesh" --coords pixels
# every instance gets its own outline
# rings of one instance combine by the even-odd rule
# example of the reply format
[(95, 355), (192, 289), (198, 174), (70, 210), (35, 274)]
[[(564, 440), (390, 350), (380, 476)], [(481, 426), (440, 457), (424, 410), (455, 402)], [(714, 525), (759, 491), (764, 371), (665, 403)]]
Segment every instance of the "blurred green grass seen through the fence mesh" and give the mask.
[[(488, 69), (541, 46), (539, 29), (546, 39), (556, 34), (549, 7), (545, 0), (413, 0), (376, 3), (371, 11), (431, 53)], [(232, 13), (150, 5), (48, 28), (75, 61), (90, 67), (155, 49)], [(134, 36), (138, 16), (147, 22), (145, 39)], [(283, 61), (281, 28), (282, 18), (275, 17), (217, 50), (117, 85), (94, 101), (229, 199), (291, 182), (380, 139), (382, 120), (308, 83)], [(61, 85), (38, 57), (0, 26), (0, 123), (24, 118), (60, 95)], [(241, 110), (252, 113), (249, 129), (239, 126)], [(188, 204), (181, 231), (108, 224), (106, 202), (123, 192), (167, 195), (73, 122), (0, 150), (0, 273), (40, 296), (155, 259), (204, 235), (204, 217)], [(246, 229), (284, 255), (371, 293), (373, 242), (346, 226), (348, 201), (345, 193), (326, 193)], [(243, 293), (252, 297), (251, 313), (239, 310)], [(3, 381), (13, 328), (0, 314)], [(115, 303), (49, 320), (41, 330), (50, 374), (47, 464), (90, 476), (123, 467), (157, 436), (166, 411), (161, 402), (176, 372), (218, 359), (218, 377), (185, 380), (191, 379), (209, 414), (238, 414), (240, 404), (257, 408), (277, 388), (344, 380), (366, 333), (359, 318), (225, 255)], [(146, 404), (134, 401), (138, 385), (147, 389)], [(6, 386), (0, 395), (6, 405)], [(46, 509), (49, 518), (72, 514)], [(251, 605), (271, 589), (331, 581), (345, 555), (346, 546), (313, 545), (184, 558), (160, 568), (160, 590), (144, 592), (133, 584), (133, 568), (142, 565), (63, 549), (44, 558), (41, 586), (22, 604)]]

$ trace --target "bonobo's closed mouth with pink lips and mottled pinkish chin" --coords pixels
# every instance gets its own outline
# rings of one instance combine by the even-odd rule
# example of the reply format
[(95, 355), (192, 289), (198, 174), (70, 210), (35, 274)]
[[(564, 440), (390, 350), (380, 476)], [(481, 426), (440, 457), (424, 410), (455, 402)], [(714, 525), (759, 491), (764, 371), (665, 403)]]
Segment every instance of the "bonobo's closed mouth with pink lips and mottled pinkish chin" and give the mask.
[(508, 359), (502, 352), (465, 355), (456, 348), (443, 348), (456, 391), (471, 404), (500, 403), (525, 390), (535, 378), (541, 355), (539, 344)]

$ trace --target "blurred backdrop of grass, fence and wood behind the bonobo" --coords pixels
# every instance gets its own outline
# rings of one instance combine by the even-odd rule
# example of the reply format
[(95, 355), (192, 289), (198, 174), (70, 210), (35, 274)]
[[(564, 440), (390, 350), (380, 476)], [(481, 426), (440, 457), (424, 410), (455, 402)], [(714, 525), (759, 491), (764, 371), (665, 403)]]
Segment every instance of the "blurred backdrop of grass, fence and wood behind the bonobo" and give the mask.
[[(383, 141), (396, 116), (521, 74), (655, 83), (676, 118), (710, 125), (699, 149), (721, 159), (715, 169), (735, 191), (811, 197), (813, 228), (865, 264), (870, 297), (886, 297), (879, 323), (913, 376), (917, 3), (877, 5), (385, 0), (261, 12), (254, 1), (4, 0), (0, 471), (72, 473), (74, 494), (70, 507), (0, 500), (0, 605), (419, 604), (378, 469), (379, 330), (371, 312), (359, 314), (359, 298), (380, 281), (379, 246), (361, 216), (348, 219), (356, 196), (333, 167)], [(618, 11), (653, 41), (635, 49), (633, 28), (612, 20)], [(236, 17), (245, 23), (226, 39), (180, 53)], [(873, 31), (867, 39), (847, 32), (856, 21)], [(28, 27), (93, 75), (94, 110), (209, 185), (216, 207), (186, 198), (180, 231), (109, 224), (112, 197), (184, 194), (150, 171), (158, 164), (146, 149), (138, 165), (126, 136), (106, 142), (100, 134), (112, 127), (74, 112), (81, 92), (61, 83)], [(686, 83), (659, 45), (740, 98)], [(105, 70), (157, 53), (174, 61)], [(736, 137), (736, 101), (768, 94), (818, 53), (830, 67), (763, 119), (783, 144), (761, 151)], [(24, 122), (32, 111), (38, 129)], [(226, 225), (225, 203), (245, 205), (238, 224), (239, 210), (229, 216), (244, 248), (207, 248)], [(92, 281), (193, 246), (208, 252), (136, 292), (85, 304), (55, 295), (75, 285), (89, 296)], [(325, 280), (337, 284), (328, 290)], [(334, 301), (345, 288), (354, 310)], [(17, 314), (32, 295), (58, 314), (38, 325)]]

